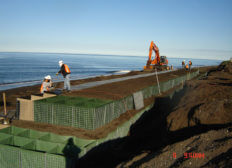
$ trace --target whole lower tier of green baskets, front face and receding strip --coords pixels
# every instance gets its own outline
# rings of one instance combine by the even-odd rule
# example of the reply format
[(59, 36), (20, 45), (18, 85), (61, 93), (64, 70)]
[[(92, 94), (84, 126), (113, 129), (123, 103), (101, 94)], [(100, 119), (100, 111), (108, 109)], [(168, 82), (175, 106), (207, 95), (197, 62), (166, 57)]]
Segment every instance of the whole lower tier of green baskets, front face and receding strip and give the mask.
[[(170, 93), (170, 97), (176, 89)], [(153, 105), (138, 112), (130, 120), (120, 125), (107, 137), (97, 140), (79, 139), (73, 136), (60, 136), (48, 132), (9, 127), (0, 130), (0, 167), (1, 168), (67, 168), (66, 158), (63, 156), (64, 146), (72, 138), (74, 145), (80, 149), (79, 158), (98, 144), (128, 134), (130, 126)], [(39, 143), (36, 143), (39, 141)], [(43, 142), (43, 143), (40, 143)]]

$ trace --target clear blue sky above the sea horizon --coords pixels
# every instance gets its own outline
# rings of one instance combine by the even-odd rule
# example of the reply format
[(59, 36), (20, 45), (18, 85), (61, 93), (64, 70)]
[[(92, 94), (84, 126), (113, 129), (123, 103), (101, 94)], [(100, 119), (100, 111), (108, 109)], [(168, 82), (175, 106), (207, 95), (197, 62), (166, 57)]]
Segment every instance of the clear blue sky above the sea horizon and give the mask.
[(0, 0), (0, 51), (232, 57), (230, 0)]

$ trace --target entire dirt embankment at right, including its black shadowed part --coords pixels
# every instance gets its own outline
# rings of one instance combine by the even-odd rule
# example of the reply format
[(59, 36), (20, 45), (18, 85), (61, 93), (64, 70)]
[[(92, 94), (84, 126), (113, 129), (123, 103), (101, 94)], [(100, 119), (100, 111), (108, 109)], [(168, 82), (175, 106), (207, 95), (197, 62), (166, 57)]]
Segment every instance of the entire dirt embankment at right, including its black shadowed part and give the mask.
[(80, 167), (231, 167), (232, 63), (188, 81), (154, 107), (130, 135), (108, 141), (79, 160)]

